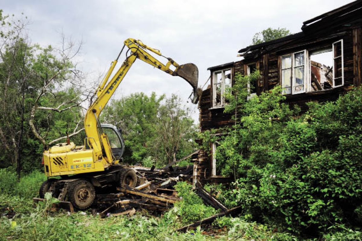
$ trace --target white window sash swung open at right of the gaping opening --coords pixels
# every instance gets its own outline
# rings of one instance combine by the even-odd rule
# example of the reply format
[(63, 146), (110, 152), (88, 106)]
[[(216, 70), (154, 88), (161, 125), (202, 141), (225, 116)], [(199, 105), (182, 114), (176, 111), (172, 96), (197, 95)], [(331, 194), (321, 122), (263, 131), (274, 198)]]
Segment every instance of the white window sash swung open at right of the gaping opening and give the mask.
[(333, 43), (333, 87), (342, 86), (343, 80), (343, 41)]

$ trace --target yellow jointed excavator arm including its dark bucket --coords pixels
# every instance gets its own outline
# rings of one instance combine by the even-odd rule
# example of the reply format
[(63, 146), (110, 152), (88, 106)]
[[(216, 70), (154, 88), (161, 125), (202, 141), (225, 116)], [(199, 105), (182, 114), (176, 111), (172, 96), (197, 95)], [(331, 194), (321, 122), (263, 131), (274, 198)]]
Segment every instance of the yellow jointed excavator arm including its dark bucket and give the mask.
[[(111, 66), (105, 75), (105, 78), (102, 80), (100, 86), (97, 88), (97, 99), (89, 107), (84, 120), (85, 133), (87, 134), (87, 145), (93, 149), (94, 159), (102, 161), (104, 167), (115, 163), (115, 159), (112, 155), (110, 144), (106, 134), (100, 131), (101, 126), (98, 121), (98, 117), (102, 110), (105, 108), (111, 96), (114, 94), (115, 90), (124, 79), (125, 75), (131, 68), (132, 64), (136, 59), (140, 59), (164, 72), (173, 76), (180, 76), (185, 79), (193, 87), (193, 98), (191, 99), (192, 103), (197, 103), (197, 83), (198, 83), (198, 69), (192, 63), (187, 63), (185, 65), (178, 65), (173, 59), (167, 58), (168, 62), (166, 65), (161, 63), (159, 60), (154, 58), (147, 50), (155, 53), (159, 56), (161, 55), (159, 50), (153, 49), (144, 45), (140, 40), (134, 40), (132, 38), (127, 39), (123, 46), (121, 53), (125, 47), (128, 47), (126, 54), (126, 59), (122, 63), (121, 67), (117, 70), (114, 76), (109, 80), (110, 75), (112, 74), (115, 66), (117, 65), (118, 58), (121, 55), (119, 53), (117, 59), (111, 63)], [(171, 70), (170, 67), (173, 66), (174, 70)]]

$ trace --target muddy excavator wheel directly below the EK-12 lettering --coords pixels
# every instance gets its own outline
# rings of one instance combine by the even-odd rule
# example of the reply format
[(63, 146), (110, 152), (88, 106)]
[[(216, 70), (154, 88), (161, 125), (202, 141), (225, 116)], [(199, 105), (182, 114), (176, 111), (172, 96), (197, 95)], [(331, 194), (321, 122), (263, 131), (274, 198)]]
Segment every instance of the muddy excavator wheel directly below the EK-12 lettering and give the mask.
[(76, 180), (70, 183), (68, 200), (76, 209), (86, 209), (92, 205), (96, 192), (92, 183), (87, 180)]

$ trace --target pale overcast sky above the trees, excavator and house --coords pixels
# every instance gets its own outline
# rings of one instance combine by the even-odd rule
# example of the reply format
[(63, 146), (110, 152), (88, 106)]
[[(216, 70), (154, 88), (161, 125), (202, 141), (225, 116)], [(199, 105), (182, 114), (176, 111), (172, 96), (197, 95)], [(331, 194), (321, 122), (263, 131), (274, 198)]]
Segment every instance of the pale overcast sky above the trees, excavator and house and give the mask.
[[(57, 46), (60, 35), (83, 41), (79, 66), (94, 79), (106, 72), (127, 38), (160, 49), (177, 63), (194, 63), (199, 86), (209, 78), (206, 69), (240, 60), (237, 51), (250, 45), (266, 28), (300, 32), (302, 22), (350, 0), (3, 0), (5, 14), (30, 20), (32, 43)], [(124, 58), (124, 57), (123, 57)], [(160, 59), (162, 61), (162, 59)], [(121, 62), (123, 59), (121, 59)], [(167, 62), (167, 61), (166, 61)], [(165, 62), (164, 62), (165, 63)], [(179, 95), (186, 103), (191, 87), (183, 79), (136, 61), (115, 98), (134, 92)], [(194, 108), (194, 111), (196, 109)], [(194, 114), (195, 116), (195, 114)]]

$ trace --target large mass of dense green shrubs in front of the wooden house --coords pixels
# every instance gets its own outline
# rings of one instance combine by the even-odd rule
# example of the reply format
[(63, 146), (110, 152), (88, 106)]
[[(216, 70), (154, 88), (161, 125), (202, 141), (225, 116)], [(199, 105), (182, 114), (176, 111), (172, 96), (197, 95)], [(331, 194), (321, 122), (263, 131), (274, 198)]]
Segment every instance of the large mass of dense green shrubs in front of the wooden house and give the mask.
[[(236, 177), (229, 199), (247, 217), (295, 233), (361, 226), (362, 88), (296, 116), (280, 87), (246, 101), (247, 77), (235, 79), (226, 110), (236, 109), (236, 125), (219, 130), (229, 135), (216, 151), (222, 173)], [(211, 133), (202, 133), (203, 146)]]

